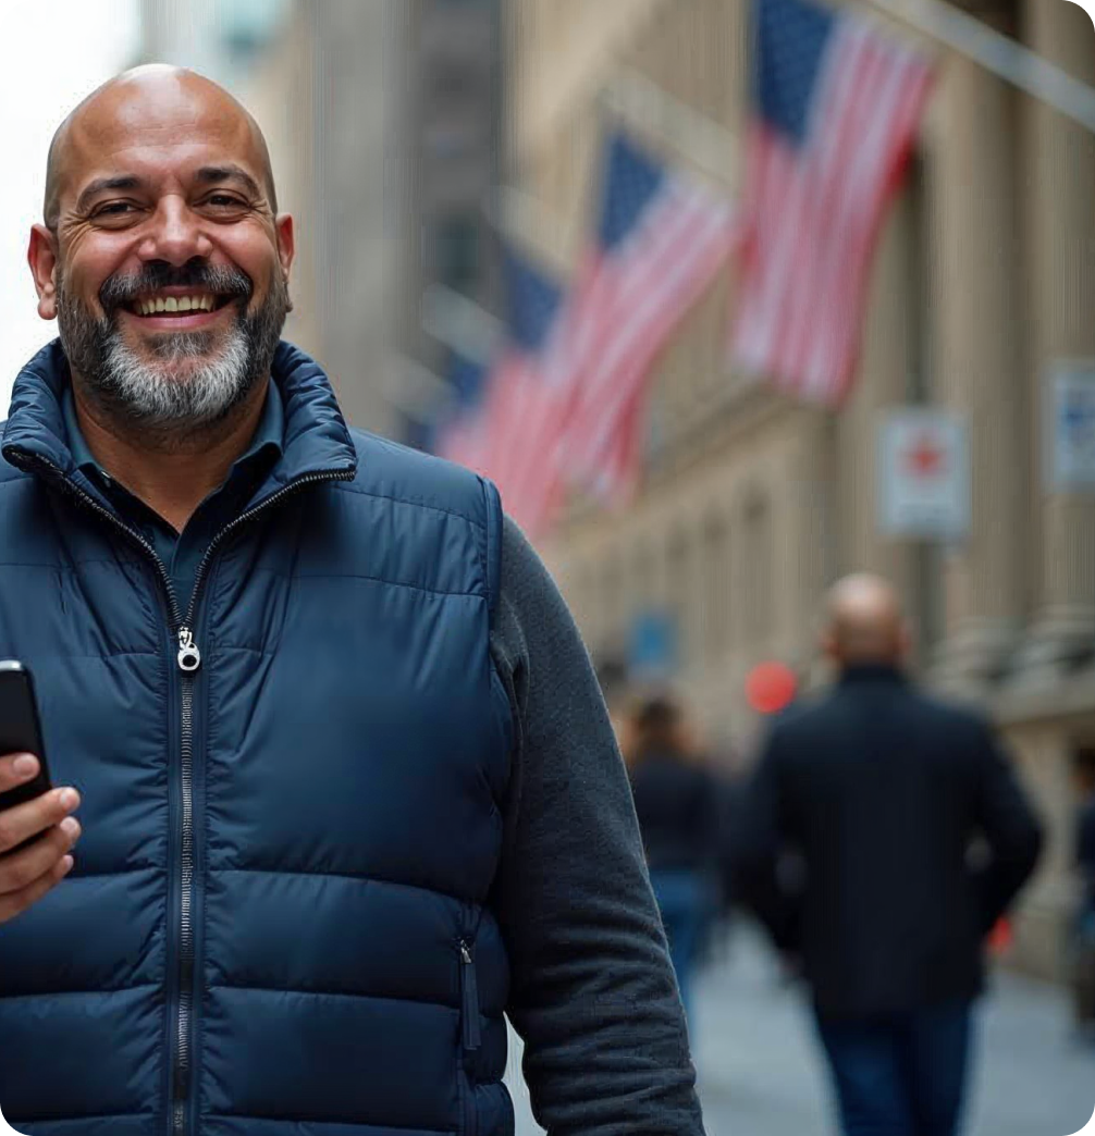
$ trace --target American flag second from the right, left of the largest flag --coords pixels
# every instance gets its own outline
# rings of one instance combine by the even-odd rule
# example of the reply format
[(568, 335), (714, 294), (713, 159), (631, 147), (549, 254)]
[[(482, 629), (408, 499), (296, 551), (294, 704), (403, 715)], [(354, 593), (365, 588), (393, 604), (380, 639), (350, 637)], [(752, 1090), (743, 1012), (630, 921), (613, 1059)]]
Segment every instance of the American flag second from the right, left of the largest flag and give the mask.
[(727, 201), (671, 174), (624, 133), (609, 137), (600, 224), (558, 360), (574, 393), (560, 445), (566, 481), (609, 500), (634, 487), (651, 367), (733, 237)]

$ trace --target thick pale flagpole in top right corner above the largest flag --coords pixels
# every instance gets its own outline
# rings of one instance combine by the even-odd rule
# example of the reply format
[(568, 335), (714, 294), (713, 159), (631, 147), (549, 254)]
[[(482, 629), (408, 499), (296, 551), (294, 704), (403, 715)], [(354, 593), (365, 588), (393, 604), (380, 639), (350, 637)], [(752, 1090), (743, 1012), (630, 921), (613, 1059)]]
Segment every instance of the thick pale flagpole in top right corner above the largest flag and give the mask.
[[(867, 0), (1095, 133), (1095, 89), (945, 0)], [(1058, 2), (1058, 0), (1052, 0)]]

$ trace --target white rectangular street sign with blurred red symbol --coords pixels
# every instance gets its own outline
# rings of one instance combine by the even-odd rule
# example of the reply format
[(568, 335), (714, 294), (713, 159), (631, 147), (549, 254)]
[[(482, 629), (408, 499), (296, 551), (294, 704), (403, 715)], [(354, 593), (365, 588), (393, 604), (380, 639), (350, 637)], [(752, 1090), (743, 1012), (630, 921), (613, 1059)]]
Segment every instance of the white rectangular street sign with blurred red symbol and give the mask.
[(970, 525), (966, 419), (941, 410), (886, 411), (878, 434), (878, 524), (887, 536), (960, 541)]

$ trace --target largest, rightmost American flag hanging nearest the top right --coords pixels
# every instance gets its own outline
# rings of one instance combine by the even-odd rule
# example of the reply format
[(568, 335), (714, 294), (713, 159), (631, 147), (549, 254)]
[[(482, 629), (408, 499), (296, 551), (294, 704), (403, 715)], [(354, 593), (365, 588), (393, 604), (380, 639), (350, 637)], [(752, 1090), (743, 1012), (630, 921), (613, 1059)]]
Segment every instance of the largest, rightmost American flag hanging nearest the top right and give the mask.
[(871, 252), (931, 85), (851, 11), (754, 0), (753, 117), (734, 362), (835, 406), (858, 361)]

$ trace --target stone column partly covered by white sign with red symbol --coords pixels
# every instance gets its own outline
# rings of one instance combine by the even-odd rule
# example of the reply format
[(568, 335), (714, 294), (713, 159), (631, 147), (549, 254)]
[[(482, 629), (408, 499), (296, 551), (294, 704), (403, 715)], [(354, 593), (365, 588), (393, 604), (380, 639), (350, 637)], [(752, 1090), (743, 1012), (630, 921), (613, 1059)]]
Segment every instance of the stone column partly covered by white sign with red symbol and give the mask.
[(976, 64), (948, 57), (928, 151), (935, 402), (967, 417), (972, 471), (971, 529), (944, 562), (935, 677), (970, 693), (1006, 667), (1021, 608), (1017, 98)]

